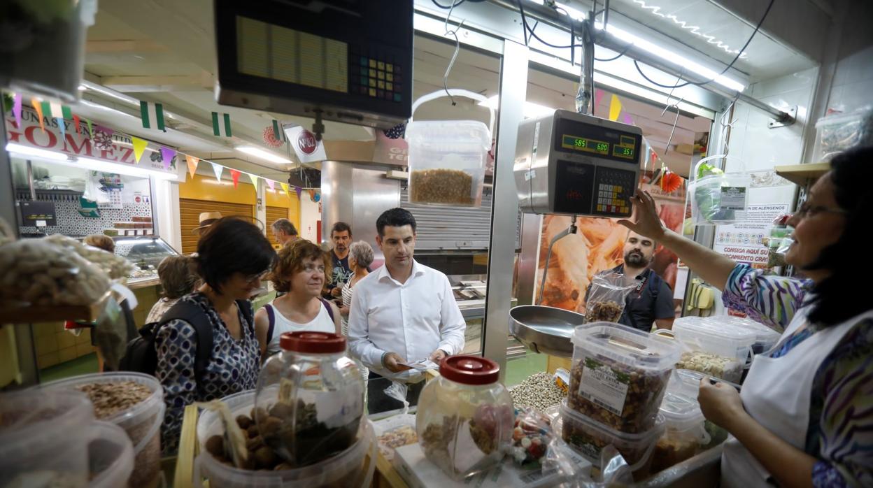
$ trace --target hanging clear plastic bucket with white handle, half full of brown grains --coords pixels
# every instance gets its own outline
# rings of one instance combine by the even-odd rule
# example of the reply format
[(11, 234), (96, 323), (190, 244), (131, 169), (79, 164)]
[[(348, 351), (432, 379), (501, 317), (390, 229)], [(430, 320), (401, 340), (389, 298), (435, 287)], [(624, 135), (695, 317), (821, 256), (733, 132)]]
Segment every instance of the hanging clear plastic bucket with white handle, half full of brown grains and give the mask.
[[(452, 90), (461, 95), (485, 100), (478, 93)], [(443, 90), (416, 100), (444, 96)], [(494, 114), (491, 113), (493, 125)], [(478, 120), (416, 120), (406, 127), (409, 143), (409, 203), (459, 207), (482, 204), (485, 163), (491, 149), (491, 130)]]

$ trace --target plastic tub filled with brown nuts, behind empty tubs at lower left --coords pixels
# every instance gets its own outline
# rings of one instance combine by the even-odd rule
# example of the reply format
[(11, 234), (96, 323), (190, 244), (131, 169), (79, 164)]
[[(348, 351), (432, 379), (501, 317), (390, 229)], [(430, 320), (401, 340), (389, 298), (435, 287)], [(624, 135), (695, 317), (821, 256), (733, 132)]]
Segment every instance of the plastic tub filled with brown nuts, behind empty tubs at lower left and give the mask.
[(97, 373), (52, 381), (39, 388), (77, 390), (93, 403), (94, 416), (118, 425), (134, 444), (130, 488), (154, 486), (161, 476), (163, 388), (155, 376), (141, 373)]

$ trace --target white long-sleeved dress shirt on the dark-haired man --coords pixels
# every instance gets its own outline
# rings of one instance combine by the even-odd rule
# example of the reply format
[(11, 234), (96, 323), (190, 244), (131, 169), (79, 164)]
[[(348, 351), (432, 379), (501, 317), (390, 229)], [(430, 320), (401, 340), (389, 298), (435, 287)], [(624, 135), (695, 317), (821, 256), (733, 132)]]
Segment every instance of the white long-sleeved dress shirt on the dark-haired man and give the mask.
[(354, 285), (349, 347), (377, 375), (398, 376), (382, 366), (385, 353), (400, 354), (410, 362), (429, 358), (436, 349), (460, 353), (466, 328), (449, 278), (415, 259), (406, 283), (391, 278), (383, 265)]

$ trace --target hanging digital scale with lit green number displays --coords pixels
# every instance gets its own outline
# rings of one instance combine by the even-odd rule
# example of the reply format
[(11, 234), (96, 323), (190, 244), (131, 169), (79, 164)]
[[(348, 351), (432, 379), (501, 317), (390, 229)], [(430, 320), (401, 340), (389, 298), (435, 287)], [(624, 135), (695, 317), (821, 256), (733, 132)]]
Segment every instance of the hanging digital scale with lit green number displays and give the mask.
[(522, 212), (629, 217), (643, 131), (556, 110), (519, 124), (513, 173)]

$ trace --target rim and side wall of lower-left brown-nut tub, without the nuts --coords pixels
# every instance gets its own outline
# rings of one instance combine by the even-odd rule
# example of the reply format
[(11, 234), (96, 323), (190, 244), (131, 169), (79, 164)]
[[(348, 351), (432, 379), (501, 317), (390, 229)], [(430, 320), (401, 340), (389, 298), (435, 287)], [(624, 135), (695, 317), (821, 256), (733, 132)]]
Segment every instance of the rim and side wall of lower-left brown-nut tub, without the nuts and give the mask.
[(120, 383), (121, 381), (134, 381), (146, 385), (152, 393), (142, 402), (100, 420), (114, 423), (124, 429), (131, 443), (134, 444), (134, 474), (130, 478), (130, 488), (152, 486), (161, 476), (161, 424), (165, 409), (163, 388), (155, 376), (132, 372), (97, 373), (52, 381), (40, 388), (50, 390), (76, 388), (78, 391), (78, 388), (91, 383)]

